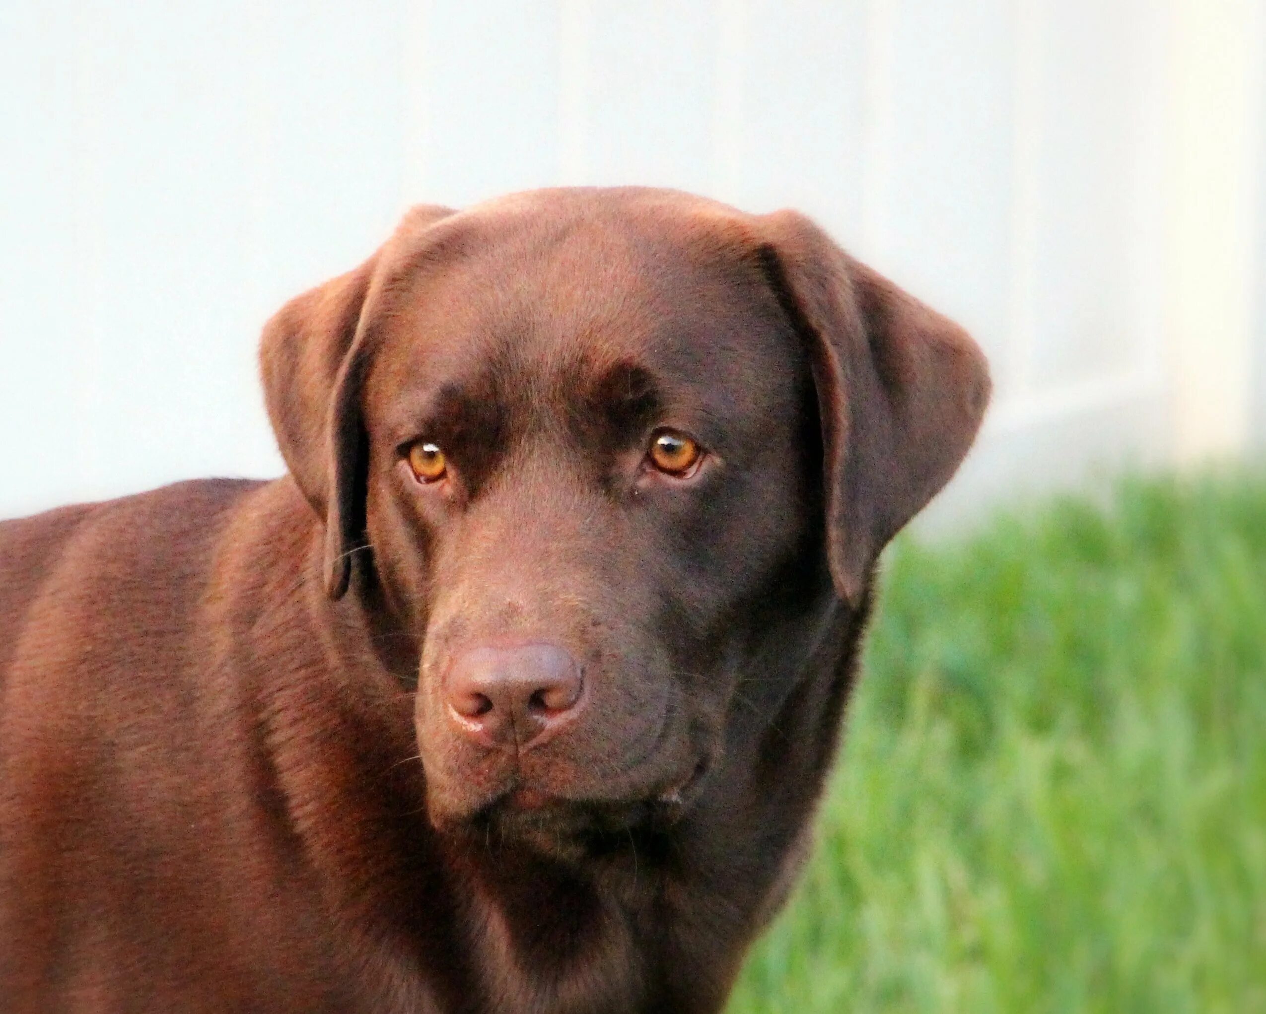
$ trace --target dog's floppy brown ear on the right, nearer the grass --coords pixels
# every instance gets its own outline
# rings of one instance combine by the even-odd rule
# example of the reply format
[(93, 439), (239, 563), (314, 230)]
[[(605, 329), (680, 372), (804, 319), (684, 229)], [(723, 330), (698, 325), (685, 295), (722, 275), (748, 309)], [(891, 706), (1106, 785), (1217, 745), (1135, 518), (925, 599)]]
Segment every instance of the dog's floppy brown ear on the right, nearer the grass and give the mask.
[(989, 366), (962, 328), (809, 219), (777, 211), (763, 224), (761, 262), (806, 342), (818, 392), (830, 576), (857, 605), (880, 551), (971, 447)]

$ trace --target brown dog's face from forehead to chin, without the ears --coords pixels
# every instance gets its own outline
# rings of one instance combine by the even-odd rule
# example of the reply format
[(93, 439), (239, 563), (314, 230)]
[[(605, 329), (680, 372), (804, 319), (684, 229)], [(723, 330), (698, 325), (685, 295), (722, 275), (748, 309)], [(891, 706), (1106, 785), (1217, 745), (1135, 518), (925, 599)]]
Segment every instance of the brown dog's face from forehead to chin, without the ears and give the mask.
[[(442, 820), (680, 809), (718, 749), (734, 642), (804, 566), (803, 349), (751, 265), (668, 224), (451, 222), (462, 251), (376, 308), (367, 533), (425, 632)], [(419, 448), (442, 462), (419, 472)]]

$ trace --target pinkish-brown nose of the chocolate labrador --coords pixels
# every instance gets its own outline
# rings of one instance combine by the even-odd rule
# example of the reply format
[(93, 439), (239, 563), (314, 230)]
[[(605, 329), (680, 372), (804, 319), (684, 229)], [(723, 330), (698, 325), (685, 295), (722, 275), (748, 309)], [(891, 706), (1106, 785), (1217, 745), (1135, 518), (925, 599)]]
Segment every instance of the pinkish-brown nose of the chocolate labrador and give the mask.
[(458, 656), (444, 692), (456, 724), (485, 746), (538, 746), (575, 718), (580, 666), (557, 644), (481, 646)]

